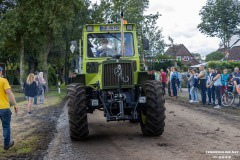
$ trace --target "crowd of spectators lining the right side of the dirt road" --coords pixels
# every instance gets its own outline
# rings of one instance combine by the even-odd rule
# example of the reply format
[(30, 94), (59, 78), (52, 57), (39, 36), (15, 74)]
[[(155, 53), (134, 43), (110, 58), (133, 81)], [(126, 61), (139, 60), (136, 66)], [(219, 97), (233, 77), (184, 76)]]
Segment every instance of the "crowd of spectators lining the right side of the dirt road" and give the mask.
[[(199, 68), (188, 69), (187, 88), (189, 103), (201, 103), (203, 106), (213, 105), (214, 108), (221, 108), (222, 95), (230, 91), (240, 95), (240, 72), (235, 67), (231, 72), (227, 69), (207, 68), (201, 65)], [(154, 71), (153, 79), (160, 81), (163, 86), (163, 94), (176, 99), (178, 91), (182, 92), (183, 74), (176, 67), (167, 68), (166, 72), (161, 69), (159, 72)], [(201, 96), (199, 96), (199, 93)]]

